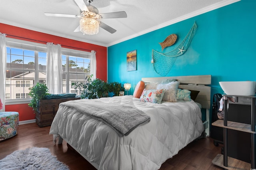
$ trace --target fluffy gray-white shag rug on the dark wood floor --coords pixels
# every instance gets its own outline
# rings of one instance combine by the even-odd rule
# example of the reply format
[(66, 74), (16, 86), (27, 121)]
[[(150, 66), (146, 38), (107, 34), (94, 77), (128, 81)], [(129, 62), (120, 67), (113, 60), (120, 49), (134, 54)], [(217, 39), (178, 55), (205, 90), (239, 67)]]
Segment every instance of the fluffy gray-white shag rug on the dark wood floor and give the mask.
[(69, 170), (48, 148), (16, 150), (0, 160), (2, 170)]

